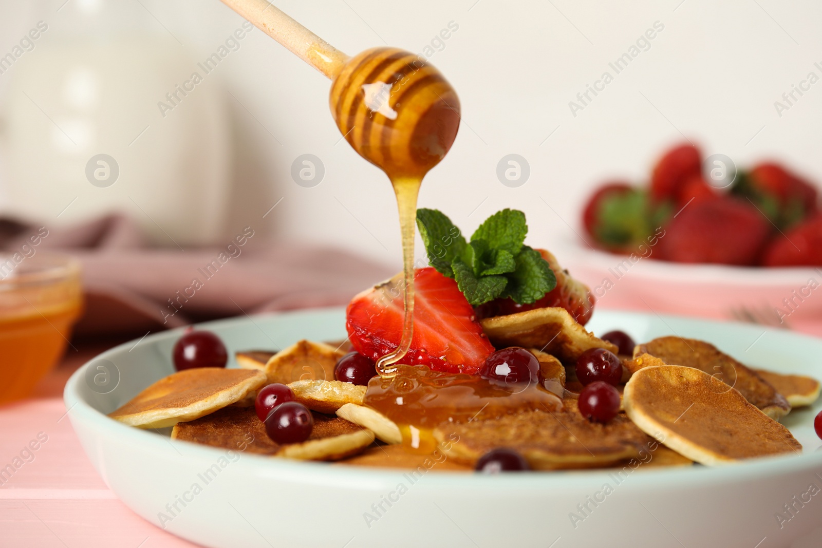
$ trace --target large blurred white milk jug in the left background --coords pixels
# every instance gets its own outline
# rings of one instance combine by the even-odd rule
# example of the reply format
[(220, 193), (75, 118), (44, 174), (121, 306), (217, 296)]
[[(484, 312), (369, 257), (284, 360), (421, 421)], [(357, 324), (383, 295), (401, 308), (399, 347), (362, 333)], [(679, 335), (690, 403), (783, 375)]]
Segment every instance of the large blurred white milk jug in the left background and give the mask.
[(2, 76), (0, 208), (49, 227), (121, 211), (163, 246), (214, 242), (231, 150), (219, 78), (140, 2), (40, 18)]

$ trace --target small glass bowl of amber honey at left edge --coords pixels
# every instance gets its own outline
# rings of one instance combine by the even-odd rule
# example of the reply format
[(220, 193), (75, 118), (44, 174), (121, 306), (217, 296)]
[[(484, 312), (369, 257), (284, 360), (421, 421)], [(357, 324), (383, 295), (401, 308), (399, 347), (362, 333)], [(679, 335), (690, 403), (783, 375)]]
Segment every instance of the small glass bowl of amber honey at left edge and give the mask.
[(80, 263), (0, 254), (0, 405), (25, 398), (68, 345), (82, 310)]

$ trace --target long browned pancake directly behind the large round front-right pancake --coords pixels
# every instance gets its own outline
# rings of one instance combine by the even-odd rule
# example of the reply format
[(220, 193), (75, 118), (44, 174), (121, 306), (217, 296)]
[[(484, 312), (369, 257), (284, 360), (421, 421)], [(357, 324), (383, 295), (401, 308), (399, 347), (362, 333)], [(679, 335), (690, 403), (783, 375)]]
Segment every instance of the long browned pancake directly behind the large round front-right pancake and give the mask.
[[(693, 338), (661, 337), (635, 348), (635, 356), (644, 353), (658, 357), (668, 365), (694, 367), (712, 375), (714, 379), (739, 390), (750, 403), (771, 418), (784, 417), (791, 411), (787, 399), (773, 386), (748, 366), (720, 352), (713, 344)], [(717, 388), (714, 387), (714, 390)]]

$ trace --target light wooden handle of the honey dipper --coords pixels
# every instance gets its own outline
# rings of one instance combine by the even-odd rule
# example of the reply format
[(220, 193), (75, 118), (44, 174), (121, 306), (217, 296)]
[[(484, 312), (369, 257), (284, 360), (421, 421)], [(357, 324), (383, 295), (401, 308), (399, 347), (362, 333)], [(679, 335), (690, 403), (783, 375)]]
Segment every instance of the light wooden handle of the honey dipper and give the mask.
[(281, 12), (268, 0), (222, 0), (316, 70), (334, 79), (349, 56)]

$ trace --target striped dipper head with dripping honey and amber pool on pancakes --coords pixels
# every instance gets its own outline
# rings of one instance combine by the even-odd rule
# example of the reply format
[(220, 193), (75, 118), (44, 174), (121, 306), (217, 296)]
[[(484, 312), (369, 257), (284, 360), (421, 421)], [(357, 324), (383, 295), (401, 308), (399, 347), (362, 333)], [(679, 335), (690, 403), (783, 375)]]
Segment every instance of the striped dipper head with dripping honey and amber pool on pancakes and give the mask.
[(407, 449), (431, 452), (434, 426), (523, 409), (554, 411), (561, 400), (538, 385), (499, 385), (472, 375), (401, 365), (413, 339), (414, 228), (423, 177), (450, 150), (459, 129), (459, 99), (423, 59), (374, 48), (349, 60), (331, 85), (339, 131), (394, 187), (403, 246), (404, 322), (399, 346), (376, 363), (365, 404), (389, 417)]

